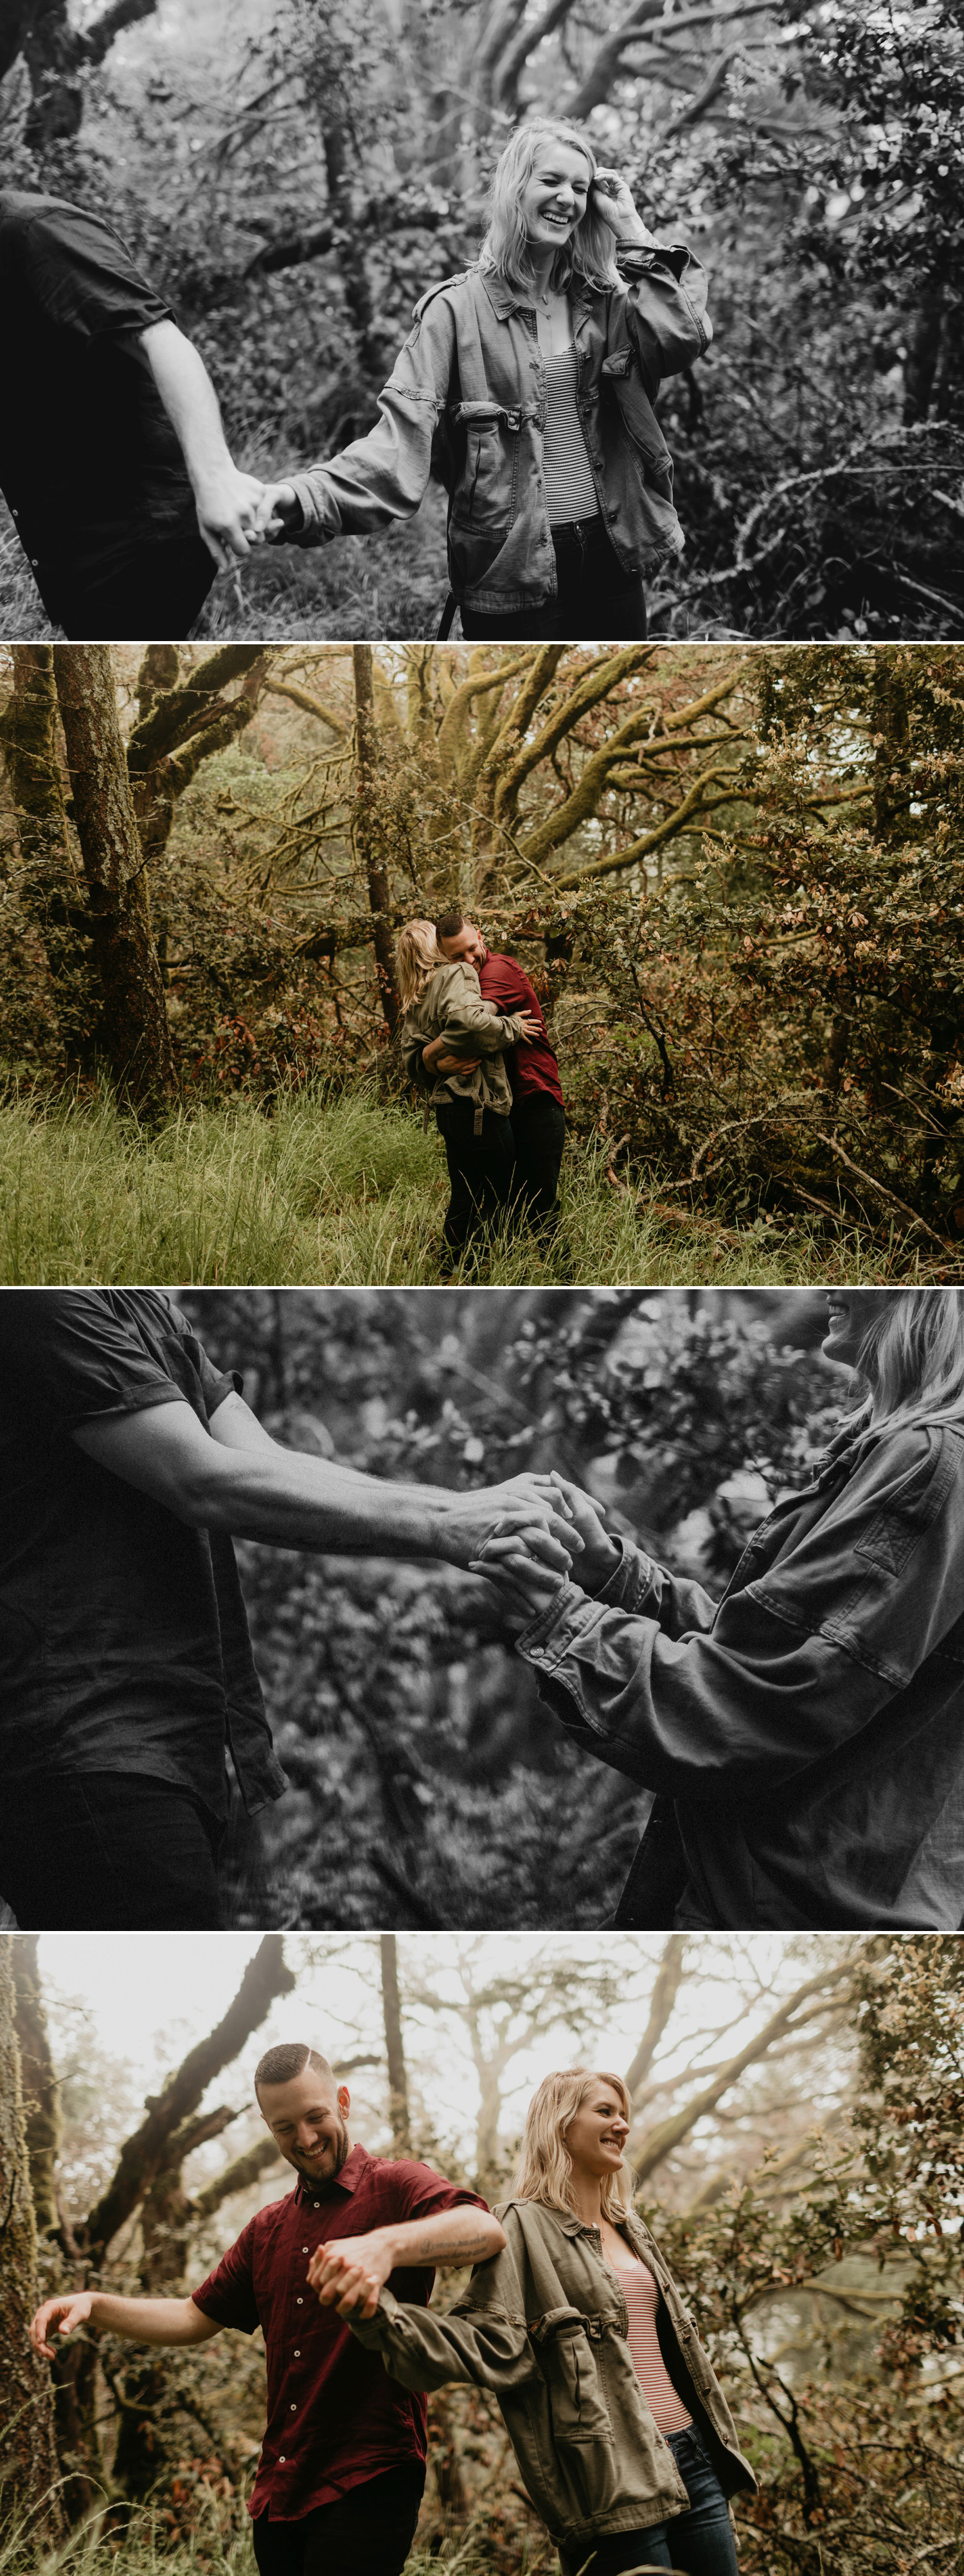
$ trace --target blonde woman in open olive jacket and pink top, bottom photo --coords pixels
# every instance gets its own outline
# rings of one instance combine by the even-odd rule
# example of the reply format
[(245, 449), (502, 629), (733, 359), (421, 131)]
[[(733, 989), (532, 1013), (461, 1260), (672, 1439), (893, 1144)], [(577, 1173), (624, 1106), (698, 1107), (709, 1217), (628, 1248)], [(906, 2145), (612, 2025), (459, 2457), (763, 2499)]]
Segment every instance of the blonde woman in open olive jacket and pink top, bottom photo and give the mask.
[(469, 2380), (503, 2409), (562, 2576), (737, 2576), (727, 2496), (753, 2488), (727, 2398), (650, 2228), (634, 2215), (621, 2076), (544, 2076), (505, 2249), (448, 2316), (384, 2287), (374, 2236), (320, 2246), (309, 2285), (402, 2388)]

